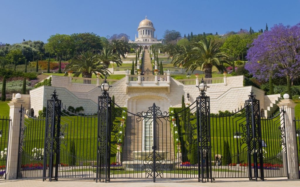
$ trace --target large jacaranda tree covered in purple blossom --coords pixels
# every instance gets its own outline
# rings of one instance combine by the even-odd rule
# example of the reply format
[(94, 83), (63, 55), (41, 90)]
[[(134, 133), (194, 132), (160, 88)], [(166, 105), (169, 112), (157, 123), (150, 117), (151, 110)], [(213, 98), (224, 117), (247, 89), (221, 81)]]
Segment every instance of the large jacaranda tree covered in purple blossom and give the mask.
[(292, 27), (274, 25), (259, 35), (247, 53), (245, 68), (259, 80), (285, 76), (292, 98), (291, 82), (300, 75), (300, 23)]

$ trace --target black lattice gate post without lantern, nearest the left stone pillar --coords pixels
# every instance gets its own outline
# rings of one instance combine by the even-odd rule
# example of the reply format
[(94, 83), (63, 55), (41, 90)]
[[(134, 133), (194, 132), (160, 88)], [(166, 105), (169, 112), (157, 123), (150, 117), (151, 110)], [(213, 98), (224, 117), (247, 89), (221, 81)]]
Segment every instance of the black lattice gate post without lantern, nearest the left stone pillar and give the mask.
[[(49, 178), (58, 180), (58, 165), (60, 163), (60, 116), (61, 100), (54, 89), (51, 99), (47, 100), (43, 181)], [(48, 166), (48, 167), (47, 167)], [(48, 172), (47, 172), (48, 168)]]

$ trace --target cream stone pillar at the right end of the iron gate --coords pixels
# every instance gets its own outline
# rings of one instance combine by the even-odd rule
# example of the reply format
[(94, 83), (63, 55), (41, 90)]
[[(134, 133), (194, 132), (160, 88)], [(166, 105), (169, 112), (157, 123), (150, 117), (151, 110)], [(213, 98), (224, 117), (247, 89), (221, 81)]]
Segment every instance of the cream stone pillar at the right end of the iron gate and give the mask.
[(297, 158), (297, 137), (295, 128), (295, 106), (293, 100), (282, 99), (277, 104), (284, 110), (285, 131), (286, 131), (286, 153), (289, 179), (299, 179), (299, 167)]

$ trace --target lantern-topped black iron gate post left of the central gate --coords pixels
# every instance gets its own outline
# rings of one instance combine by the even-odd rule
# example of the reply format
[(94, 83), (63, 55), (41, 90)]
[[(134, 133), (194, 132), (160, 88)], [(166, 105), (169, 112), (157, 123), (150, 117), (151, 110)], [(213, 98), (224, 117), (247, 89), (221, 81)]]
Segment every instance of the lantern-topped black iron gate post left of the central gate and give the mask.
[(110, 181), (110, 133), (112, 121), (112, 99), (108, 94), (111, 87), (106, 76), (101, 84), (102, 96), (98, 97), (98, 130), (97, 130), (97, 167), (96, 183), (105, 180)]

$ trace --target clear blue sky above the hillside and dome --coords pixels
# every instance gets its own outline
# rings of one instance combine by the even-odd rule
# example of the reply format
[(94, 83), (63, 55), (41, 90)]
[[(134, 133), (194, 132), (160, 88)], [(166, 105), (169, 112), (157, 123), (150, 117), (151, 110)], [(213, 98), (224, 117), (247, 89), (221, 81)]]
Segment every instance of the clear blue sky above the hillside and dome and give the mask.
[(150, 19), (158, 39), (166, 29), (193, 34), (254, 31), (277, 23), (300, 22), (300, 0), (0, 0), (0, 42), (47, 41), (52, 34), (93, 32), (131, 39), (141, 20)]

